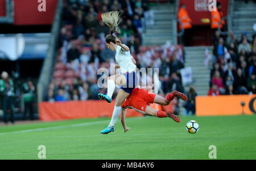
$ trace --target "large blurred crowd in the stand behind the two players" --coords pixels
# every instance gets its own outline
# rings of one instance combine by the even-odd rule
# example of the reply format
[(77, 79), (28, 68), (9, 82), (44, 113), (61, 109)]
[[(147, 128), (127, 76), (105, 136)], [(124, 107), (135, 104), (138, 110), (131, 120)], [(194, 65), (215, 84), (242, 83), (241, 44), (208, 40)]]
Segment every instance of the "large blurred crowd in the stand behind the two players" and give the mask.
[[(115, 52), (105, 46), (105, 36), (110, 31), (101, 21), (101, 13), (111, 10), (121, 12), (118, 37), (129, 46), (138, 69), (153, 69), (141, 82), (154, 82), (154, 68), (159, 68), (160, 95), (173, 90), (184, 92), (180, 75), (184, 67), (183, 47), (170, 42), (164, 46), (141, 46), (141, 18), (149, 10), (146, 1), (64, 1), (63, 8), (59, 55), (47, 101), (98, 100), (97, 93), (106, 93), (106, 88), (97, 85), (102, 76), (97, 71), (101, 67), (110, 71), (110, 63), (115, 63)], [(113, 98), (117, 91), (116, 88)]]

